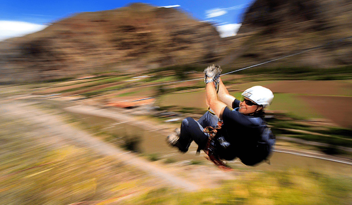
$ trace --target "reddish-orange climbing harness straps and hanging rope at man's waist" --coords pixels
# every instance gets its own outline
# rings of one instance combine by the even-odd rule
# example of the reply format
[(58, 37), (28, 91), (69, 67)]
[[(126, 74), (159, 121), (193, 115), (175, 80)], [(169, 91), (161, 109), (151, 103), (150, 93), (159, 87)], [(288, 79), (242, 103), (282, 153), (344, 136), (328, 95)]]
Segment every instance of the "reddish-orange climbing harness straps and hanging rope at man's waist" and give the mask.
[[(221, 168), (225, 171), (230, 171), (233, 169), (231, 167), (229, 167), (228, 165), (226, 165), (224, 163), (224, 161), (222, 161), (219, 158), (219, 155), (216, 153), (215, 147), (214, 147), (214, 138), (215, 138), (215, 135), (218, 132), (218, 130), (221, 129), (221, 126), (222, 126), (222, 122), (219, 121), (218, 124), (216, 124), (215, 128), (210, 127), (210, 126), (204, 128), (204, 132), (209, 133), (209, 138), (208, 138), (208, 141), (207, 141), (205, 148), (203, 148), (203, 151), (204, 151), (204, 153), (207, 154), (206, 158), (208, 160), (212, 161), (218, 168)], [(207, 131), (207, 129), (208, 129), (208, 131)], [(200, 148), (198, 148), (198, 150), (197, 150), (197, 154), (199, 154), (199, 153), (200, 153)]]

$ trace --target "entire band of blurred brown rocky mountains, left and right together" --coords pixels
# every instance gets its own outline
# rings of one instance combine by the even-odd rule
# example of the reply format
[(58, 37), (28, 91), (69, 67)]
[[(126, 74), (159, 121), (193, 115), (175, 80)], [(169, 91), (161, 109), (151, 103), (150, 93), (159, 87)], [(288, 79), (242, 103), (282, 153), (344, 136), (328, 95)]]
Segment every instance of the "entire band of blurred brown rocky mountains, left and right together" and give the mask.
[[(0, 82), (174, 65), (238, 68), (352, 36), (352, 0), (256, 0), (235, 37), (177, 8), (134, 3), (78, 13), (0, 42)], [(352, 64), (352, 38), (265, 66)]]

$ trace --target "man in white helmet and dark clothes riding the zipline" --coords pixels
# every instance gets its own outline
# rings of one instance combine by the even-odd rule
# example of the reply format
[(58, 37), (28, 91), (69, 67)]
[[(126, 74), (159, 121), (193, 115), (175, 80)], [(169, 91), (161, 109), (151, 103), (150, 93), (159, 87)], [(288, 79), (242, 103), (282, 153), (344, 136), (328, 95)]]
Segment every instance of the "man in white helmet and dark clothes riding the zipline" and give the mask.
[(198, 121), (185, 118), (181, 129), (176, 129), (166, 141), (183, 153), (195, 141), (197, 152), (202, 149), (209, 160), (222, 168), (228, 168), (222, 160), (239, 158), (250, 166), (266, 160), (275, 144), (275, 135), (263, 116), (263, 108), (274, 98), (271, 90), (251, 87), (241, 94), (239, 101), (222, 83), (220, 66), (209, 66), (204, 73), (206, 103), (210, 109)]

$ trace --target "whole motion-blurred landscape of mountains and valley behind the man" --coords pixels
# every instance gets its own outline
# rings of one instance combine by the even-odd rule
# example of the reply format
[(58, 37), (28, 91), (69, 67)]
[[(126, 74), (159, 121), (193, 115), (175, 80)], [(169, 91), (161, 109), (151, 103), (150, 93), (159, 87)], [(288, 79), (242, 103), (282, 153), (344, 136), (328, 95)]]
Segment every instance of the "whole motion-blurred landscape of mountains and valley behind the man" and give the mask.
[[(257, 0), (237, 36), (176, 8), (84, 12), (0, 42), (2, 204), (350, 204), (352, 2)], [(338, 41), (335, 41), (338, 40)], [(165, 137), (206, 110), (203, 69), (230, 94), (263, 85), (270, 164), (221, 171)]]

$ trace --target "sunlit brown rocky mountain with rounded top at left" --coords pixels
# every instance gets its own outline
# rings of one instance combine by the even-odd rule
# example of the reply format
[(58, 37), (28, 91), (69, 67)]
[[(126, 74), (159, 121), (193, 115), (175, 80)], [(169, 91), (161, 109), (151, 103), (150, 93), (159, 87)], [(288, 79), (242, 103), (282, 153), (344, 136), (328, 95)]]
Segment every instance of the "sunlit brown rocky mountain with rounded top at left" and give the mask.
[(134, 3), (78, 13), (43, 31), (2, 42), (0, 71), (2, 81), (18, 73), (26, 81), (208, 64), (224, 54), (223, 44), (211, 24), (179, 9)]

